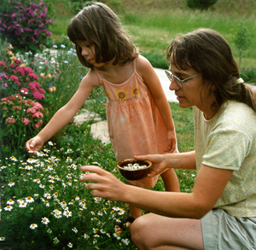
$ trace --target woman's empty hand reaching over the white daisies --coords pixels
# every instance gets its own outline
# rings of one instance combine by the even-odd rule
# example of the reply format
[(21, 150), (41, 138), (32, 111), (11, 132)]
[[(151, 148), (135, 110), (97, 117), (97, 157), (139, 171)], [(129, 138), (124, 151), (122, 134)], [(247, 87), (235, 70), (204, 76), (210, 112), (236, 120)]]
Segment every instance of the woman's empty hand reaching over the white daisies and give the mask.
[(119, 181), (112, 173), (103, 170), (99, 166), (81, 166), (80, 169), (86, 173), (81, 177), (82, 182), (93, 182), (87, 185), (92, 190), (92, 195), (102, 197), (110, 201), (122, 201), (125, 194), (125, 183)]

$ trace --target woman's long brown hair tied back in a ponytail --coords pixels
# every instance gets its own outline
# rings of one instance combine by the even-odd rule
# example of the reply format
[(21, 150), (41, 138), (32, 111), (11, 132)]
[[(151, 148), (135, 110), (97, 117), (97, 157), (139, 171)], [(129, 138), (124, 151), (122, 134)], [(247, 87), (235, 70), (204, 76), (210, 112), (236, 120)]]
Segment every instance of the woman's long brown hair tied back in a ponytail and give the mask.
[(194, 68), (201, 73), (204, 84), (217, 87), (212, 94), (218, 108), (228, 100), (246, 103), (256, 111), (255, 91), (239, 83), (239, 68), (230, 45), (218, 32), (201, 28), (172, 40), (166, 61), (179, 69)]

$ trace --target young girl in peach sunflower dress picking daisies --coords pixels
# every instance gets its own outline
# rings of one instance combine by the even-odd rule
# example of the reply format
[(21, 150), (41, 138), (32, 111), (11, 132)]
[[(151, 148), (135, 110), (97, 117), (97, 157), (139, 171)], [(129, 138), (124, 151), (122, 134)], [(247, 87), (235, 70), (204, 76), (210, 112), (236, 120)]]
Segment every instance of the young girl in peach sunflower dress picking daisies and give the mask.
[[(135, 154), (177, 151), (172, 113), (160, 80), (151, 64), (139, 55), (117, 15), (103, 3), (89, 3), (71, 20), (67, 36), (75, 44), (79, 61), (90, 72), (73, 98), (36, 137), (26, 142), (26, 149), (42, 148), (44, 142), (73, 119), (90, 91), (102, 85), (108, 97), (108, 131), (117, 160)], [(166, 191), (179, 190), (172, 169), (161, 177)], [(145, 177), (131, 184), (149, 189), (157, 180), (158, 177)], [(141, 211), (130, 206), (130, 213), (137, 218)]]

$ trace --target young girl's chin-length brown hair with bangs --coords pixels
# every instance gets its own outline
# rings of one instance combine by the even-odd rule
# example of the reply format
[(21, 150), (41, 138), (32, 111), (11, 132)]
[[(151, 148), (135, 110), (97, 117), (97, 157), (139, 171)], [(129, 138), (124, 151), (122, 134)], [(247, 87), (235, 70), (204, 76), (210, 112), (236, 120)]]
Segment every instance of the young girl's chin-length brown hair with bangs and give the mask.
[(92, 68), (84, 56), (79, 42), (95, 45), (96, 62), (113, 60), (113, 65), (133, 60), (138, 51), (131, 38), (123, 30), (119, 18), (103, 3), (86, 3), (67, 27), (67, 36), (75, 44), (79, 61), (84, 67)]

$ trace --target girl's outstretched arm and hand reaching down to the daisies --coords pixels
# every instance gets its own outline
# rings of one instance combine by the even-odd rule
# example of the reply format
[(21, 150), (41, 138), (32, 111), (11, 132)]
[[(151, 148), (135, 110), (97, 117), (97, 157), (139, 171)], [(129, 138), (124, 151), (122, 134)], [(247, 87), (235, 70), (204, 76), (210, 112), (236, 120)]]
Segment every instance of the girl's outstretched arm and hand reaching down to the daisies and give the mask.
[(65, 106), (60, 108), (49, 123), (44, 127), (42, 131), (38, 133), (36, 137), (33, 137), (26, 142), (27, 151), (35, 151), (42, 148), (44, 142), (49, 140), (50, 137), (54, 136), (57, 131), (60, 131), (65, 125), (67, 125), (79, 111), (90, 95), (91, 90), (95, 86), (99, 86), (99, 79), (96, 73), (91, 70), (79, 84), (79, 89), (73, 95), (71, 100), (67, 102)]

